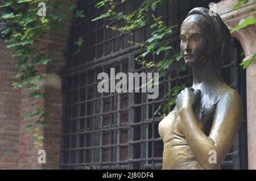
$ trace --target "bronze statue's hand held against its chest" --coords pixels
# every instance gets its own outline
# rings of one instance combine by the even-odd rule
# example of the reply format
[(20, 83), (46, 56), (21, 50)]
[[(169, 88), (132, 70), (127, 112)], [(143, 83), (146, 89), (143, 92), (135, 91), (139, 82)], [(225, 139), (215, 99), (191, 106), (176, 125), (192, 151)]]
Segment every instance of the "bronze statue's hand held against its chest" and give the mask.
[(193, 108), (197, 101), (200, 100), (201, 91), (193, 88), (186, 88), (177, 95), (176, 106), (178, 110), (185, 107)]

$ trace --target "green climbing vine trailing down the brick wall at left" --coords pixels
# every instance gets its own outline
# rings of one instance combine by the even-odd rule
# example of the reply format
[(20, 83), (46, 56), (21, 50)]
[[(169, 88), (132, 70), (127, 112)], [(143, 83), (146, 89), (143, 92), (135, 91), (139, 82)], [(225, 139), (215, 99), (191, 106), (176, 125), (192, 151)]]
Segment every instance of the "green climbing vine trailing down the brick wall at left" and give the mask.
[(75, 9), (75, 6), (68, 7), (66, 2), (61, 0), (44, 0), (43, 5), (46, 7), (40, 5), (42, 0), (8, 0), (0, 6), (1, 11), (5, 11), (1, 15), (1, 22), (10, 25), (1, 32), (1, 36), (7, 37), (7, 48), (11, 48), (11, 56), (16, 60), (16, 66), (19, 68), (15, 76), (17, 81), (13, 83), (13, 87), (14, 89), (27, 87), (31, 92), (30, 98), (35, 99), (35, 102), (31, 103), (35, 111), (23, 115), (35, 120), (23, 129), (23, 131), (34, 129), (35, 146), (42, 146), (43, 136), (40, 136), (39, 132), (42, 126), (46, 126), (45, 119), (50, 116), (44, 108), (38, 108), (40, 99), (45, 98), (48, 93), (42, 89), (46, 75), (40, 73), (39, 68), (52, 61), (44, 53), (44, 49), (39, 48), (38, 43), (45, 38), (50, 28), (61, 30), (63, 25), (61, 22), (67, 19), (67, 13), (55, 12), (56, 9)]

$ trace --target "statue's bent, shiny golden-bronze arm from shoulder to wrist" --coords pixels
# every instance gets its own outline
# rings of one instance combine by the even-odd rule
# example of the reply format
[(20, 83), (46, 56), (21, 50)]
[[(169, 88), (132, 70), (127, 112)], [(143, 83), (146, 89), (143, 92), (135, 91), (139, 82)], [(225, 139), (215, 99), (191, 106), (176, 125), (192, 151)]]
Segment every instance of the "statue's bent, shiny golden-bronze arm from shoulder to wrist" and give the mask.
[[(212, 129), (207, 137), (197, 123), (192, 107), (183, 107), (179, 115), (183, 132), (196, 159), (205, 169), (217, 169), (230, 150), (242, 120), (240, 95), (232, 90), (218, 102)], [(209, 162), (209, 151), (217, 153), (217, 162)]]

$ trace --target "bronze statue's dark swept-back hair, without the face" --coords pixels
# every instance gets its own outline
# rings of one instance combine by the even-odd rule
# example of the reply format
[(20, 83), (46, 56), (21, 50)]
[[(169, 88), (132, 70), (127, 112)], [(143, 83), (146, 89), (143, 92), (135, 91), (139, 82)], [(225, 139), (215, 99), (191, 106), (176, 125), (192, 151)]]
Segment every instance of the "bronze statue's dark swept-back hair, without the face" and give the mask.
[(212, 36), (211, 39), (214, 45), (213, 50), (216, 52), (216, 57), (214, 58), (216, 65), (220, 67), (230, 57), (229, 49), (232, 39), (228, 27), (222, 21), (220, 15), (204, 7), (196, 7), (195, 9), (192, 9), (189, 11), (186, 18), (191, 15), (203, 15), (209, 21), (211, 29), (211, 32), (209, 33), (212, 33), (210, 36)]

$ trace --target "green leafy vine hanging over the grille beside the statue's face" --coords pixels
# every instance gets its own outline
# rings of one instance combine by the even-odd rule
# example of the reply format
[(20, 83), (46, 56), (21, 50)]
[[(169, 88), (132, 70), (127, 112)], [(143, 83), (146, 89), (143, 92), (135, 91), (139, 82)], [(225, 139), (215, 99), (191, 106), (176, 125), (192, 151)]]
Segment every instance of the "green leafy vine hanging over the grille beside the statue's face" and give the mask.
[[(167, 90), (166, 94), (162, 96), (162, 104), (155, 111), (155, 114), (160, 116), (165, 116), (164, 112), (170, 107), (175, 105), (175, 99), (177, 94), (185, 88), (185, 84), (182, 84), (179, 79), (179, 73), (185, 70), (185, 66), (181, 64), (181, 53), (176, 52), (172, 43), (172, 32), (176, 26), (167, 26), (163, 22), (162, 16), (155, 16), (156, 8), (160, 5), (169, 5), (171, 1), (167, 3), (167, 0), (144, 0), (138, 9), (134, 10), (130, 14), (125, 14), (124, 12), (118, 12), (117, 6), (119, 3), (125, 3), (126, 0), (114, 1), (114, 0), (103, 0), (97, 3), (97, 9), (105, 9), (105, 12), (100, 16), (97, 16), (92, 21), (97, 21), (99, 19), (107, 19), (110, 22), (114, 20), (123, 20), (126, 22), (126, 26), (117, 27), (106, 25), (113, 31), (119, 31), (122, 35), (133, 34), (137, 28), (142, 28), (150, 24), (151, 37), (144, 42), (134, 42), (129, 41), (132, 45), (138, 45), (143, 49), (143, 52), (135, 58), (139, 64), (146, 66), (153, 72), (159, 73), (159, 79), (164, 79), (166, 77), (167, 71), (170, 69), (174, 62), (178, 62), (179, 69), (176, 72), (176, 86), (171, 90)], [(150, 22), (150, 19), (152, 22)], [(152, 60), (147, 60), (148, 54), (159, 55), (164, 53), (163, 60), (159, 62), (153, 62)], [(152, 83), (152, 82), (150, 82)]]

